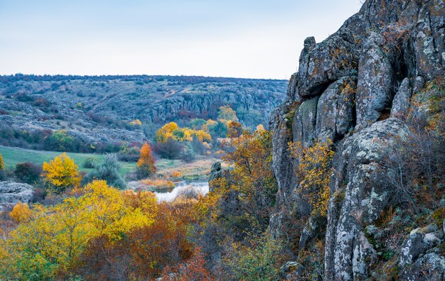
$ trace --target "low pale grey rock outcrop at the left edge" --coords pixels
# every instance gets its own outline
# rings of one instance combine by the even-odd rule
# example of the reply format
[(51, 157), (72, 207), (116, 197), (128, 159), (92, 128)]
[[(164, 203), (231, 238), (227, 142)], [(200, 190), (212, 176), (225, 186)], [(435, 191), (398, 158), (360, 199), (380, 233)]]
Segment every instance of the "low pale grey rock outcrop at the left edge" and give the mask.
[(0, 182), (0, 211), (18, 202), (28, 203), (33, 197), (33, 189), (25, 183)]

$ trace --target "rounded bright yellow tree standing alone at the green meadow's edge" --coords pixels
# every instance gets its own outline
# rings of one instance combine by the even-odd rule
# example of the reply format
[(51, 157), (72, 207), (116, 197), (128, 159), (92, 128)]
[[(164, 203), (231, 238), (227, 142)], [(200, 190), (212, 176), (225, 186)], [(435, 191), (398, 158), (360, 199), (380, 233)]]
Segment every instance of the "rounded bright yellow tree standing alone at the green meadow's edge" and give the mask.
[(77, 187), (80, 184), (81, 176), (74, 160), (66, 153), (62, 153), (49, 163), (44, 162), (43, 178), (53, 186), (53, 192), (63, 192), (68, 187)]

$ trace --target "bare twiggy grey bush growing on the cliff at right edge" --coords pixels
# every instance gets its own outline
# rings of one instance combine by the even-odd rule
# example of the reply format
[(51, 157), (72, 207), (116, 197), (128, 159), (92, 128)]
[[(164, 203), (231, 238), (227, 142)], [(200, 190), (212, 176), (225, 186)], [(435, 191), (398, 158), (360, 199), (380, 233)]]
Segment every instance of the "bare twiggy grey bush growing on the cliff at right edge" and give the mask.
[(441, 130), (414, 120), (409, 136), (395, 141), (395, 153), (385, 163), (387, 172), (382, 180), (392, 191), (393, 205), (417, 211), (422, 206), (439, 207), (445, 185), (445, 135)]

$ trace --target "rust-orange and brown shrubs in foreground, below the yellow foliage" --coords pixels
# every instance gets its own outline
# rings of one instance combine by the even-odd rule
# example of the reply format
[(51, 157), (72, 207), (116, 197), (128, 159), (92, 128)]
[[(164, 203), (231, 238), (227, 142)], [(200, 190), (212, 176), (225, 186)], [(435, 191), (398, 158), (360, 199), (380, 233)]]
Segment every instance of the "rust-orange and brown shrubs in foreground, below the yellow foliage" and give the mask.
[[(150, 192), (135, 194), (134, 198), (144, 196), (144, 193)], [(82, 275), (86, 280), (151, 280), (159, 277), (165, 268), (184, 263), (193, 256), (193, 245), (186, 238), (188, 226), (194, 220), (191, 206), (188, 202), (159, 204), (154, 224), (134, 229), (119, 243), (113, 243), (107, 236), (95, 238), (70, 272)], [(189, 272), (195, 272), (199, 265), (190, 268)]]

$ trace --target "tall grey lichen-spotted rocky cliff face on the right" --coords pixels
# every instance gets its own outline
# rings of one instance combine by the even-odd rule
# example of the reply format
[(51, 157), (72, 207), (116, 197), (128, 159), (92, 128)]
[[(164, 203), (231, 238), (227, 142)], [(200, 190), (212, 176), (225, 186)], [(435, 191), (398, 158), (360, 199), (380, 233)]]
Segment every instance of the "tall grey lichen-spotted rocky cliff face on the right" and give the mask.
[[(392, 192), (380, 174), (386, 172), (385, 160), (397, 153), (393, 144), (409, 135), (404, 116), (410, 110), (429, 114), (413, 95), (444, 77), (444, 16), (441, 0), (368, 0), (323, 42), (304, 41), (299, 72), (289, 81), (286, 101), (271, 115), (279, 192), (269, 229), (276, 236), (296, 236), (297, 252), (326, 233), (326, 280), (390, 276), (377, 274), (380, 250), (366, 229), (391, 205)], [(317, 223), (309, 217), (301, 235), (296, 234), (289, 229), (304, 217), (298, 210), (304, 199), (288, 143), (309, 147), (328, 139), (336, 155), (327, 220)], [(397, 246), (400, 260), (392, 266), (400, 279), (443, 280), (445, 258), (438, 250), (444, 245), (443, 211), (440, 217)]]

